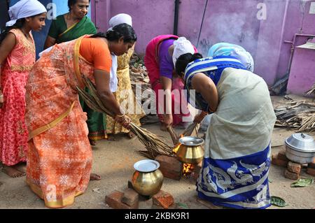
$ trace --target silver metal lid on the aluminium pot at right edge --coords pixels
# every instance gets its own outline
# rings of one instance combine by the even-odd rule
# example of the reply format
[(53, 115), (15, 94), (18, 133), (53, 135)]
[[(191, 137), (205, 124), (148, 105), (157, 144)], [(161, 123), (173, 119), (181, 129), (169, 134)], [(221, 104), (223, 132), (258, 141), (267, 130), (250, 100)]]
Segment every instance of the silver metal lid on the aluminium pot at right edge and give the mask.
[(314, 138), (307, 134), (293, 134), (286, 138), (286, 145), (300, 152), (315, 152)]

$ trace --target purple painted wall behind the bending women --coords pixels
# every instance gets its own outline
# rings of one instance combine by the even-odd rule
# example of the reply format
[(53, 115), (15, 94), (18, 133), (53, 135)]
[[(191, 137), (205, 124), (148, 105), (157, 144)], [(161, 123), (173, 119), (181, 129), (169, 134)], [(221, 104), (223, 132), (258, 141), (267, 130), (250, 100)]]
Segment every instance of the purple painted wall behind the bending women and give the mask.
[[(315, 0), (314, 0), (315, 1)], [(109, 18), (118, 13), (133, 17), (143, 54), (147, 43), (160, 34), (172, 34), (174, 0), (92, 1), (92, 19), (99, 30), (108, 29)], [(179, 6), (179, 36), (186, 36), (203, 55), (211, 45), (229, 42), (243, 46), (255, 60), (255, 73), (268, 85), (283, 77), (290, 61), (290, 43), (295, 33), (315, 34), (315, 15), (309, 14), (311, 0), (182, 0)], [(267, 19), (258, 20), (258, 3), (265, 3)], [(197, 43), (200, 34), (200, 41)], [(297, 38), (301, 45), (306, 38)]]

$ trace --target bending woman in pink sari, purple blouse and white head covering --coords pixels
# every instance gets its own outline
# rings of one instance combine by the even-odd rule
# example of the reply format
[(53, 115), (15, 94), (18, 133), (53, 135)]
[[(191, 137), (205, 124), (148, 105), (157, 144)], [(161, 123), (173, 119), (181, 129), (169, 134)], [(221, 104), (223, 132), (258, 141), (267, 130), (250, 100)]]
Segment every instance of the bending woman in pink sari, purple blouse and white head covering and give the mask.
[[(197, 50), (186, 38), (174, 35), (157, 36), (146, 47), (144, 64), (155, 92), (162, 131), (166, 131), (172, 124), (185, 127), (188, 120), (184, 117), (190, 117), (188, 103), (181, 91), (183, 82), (174, 74), (176, 59), (187, 52), (194, 53)], [(165, 99), (162, 98), (164, 96)]]

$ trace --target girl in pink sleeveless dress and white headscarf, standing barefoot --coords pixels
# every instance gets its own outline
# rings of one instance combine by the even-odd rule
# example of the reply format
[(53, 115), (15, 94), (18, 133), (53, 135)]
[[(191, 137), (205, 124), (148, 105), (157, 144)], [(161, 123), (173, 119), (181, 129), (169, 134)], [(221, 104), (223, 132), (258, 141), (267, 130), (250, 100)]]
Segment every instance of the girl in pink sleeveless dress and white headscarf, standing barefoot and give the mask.
[(8, 11), (10, 21), (0, 34), (0, 161), (12, 178), (25, 175), (17, 164), (27, 161), (25, 85), (35, 59), (31, 30), (45, 26), (47, 10), (37, 0), (21, 0)]

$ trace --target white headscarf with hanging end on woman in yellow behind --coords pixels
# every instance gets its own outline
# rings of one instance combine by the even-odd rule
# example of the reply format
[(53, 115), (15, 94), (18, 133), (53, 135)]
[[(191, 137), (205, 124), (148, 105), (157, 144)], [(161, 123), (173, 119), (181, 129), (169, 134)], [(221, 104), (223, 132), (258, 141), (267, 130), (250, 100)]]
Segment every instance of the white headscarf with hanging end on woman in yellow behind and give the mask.
[[(118, 15), (115, 15), (114, 17), (109, 20), (109, 30), (113, 29), (113, 27), (117, 26), (118, 24), (127, 23), (130, 26), (132, 26), (132, 17), (125, 13), (120, 13)], [(118, 62), (117, 62), (117, 56), (111, 55), (111, 73), (110, 73), (110, 80), (109, 80), (109, 87), (111, 89), (111, 92), (116, 92), (118, 87), (118, 79), (117, 79), (117, 68), (118, 68)]]

